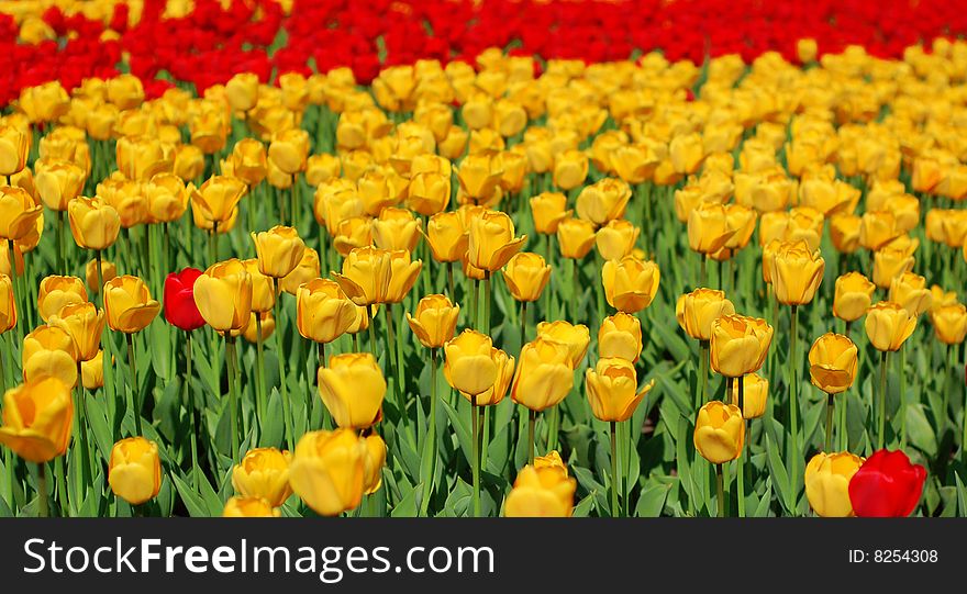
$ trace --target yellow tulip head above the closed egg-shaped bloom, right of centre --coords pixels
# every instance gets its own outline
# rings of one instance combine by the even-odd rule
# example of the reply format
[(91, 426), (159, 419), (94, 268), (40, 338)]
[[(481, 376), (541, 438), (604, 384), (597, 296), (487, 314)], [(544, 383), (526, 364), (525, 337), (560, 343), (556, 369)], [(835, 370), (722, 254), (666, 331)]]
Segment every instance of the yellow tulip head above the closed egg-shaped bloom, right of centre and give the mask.
[(773, 326), (765, 320), (723, 315), (712, 322), (711, 363), (716, 373), (738, 378), (763, 367)]

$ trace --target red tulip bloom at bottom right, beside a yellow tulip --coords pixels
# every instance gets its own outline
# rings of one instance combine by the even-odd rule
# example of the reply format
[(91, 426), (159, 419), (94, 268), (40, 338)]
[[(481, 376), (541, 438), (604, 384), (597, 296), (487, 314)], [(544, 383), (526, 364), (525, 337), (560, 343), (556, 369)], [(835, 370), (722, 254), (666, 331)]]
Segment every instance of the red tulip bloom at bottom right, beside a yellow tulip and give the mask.
[(849, 481), (849, 501), (859, 517), (907, 517), (920, 502), (926, 470), (900, 450), (877, 450)]

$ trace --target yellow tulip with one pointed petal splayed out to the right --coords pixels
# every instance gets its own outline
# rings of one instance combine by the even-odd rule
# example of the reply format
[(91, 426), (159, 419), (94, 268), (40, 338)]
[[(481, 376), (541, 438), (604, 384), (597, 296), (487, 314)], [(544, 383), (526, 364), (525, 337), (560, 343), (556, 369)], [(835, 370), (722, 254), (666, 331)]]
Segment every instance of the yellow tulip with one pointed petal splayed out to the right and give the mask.
[(622, 422), (634, 414), (645, 395), (655, 386), (655, 380), (638, 391), (634, 365), (616, 357), (601, 358), (594, 369), (585, 371), (588, 402), (600, 421)]

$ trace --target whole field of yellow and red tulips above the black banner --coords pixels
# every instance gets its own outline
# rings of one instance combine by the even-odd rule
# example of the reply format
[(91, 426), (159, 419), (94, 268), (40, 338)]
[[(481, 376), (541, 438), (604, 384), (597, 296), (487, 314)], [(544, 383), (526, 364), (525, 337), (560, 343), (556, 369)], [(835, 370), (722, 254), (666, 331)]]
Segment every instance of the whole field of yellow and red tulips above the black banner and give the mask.
[(0, 1), (0, 516), (967, 516), (953, 4)]

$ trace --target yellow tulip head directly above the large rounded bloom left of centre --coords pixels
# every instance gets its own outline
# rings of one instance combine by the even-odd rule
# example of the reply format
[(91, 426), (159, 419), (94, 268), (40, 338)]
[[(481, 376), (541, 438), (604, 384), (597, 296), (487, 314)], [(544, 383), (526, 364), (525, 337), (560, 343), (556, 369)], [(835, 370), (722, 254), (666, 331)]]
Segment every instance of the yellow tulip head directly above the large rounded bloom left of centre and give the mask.
[(303, 338), (332, 343), (356, 321), (356, 305), (340, 284), (330, 279), (314, 279), (296, 293), (296, 327)]

